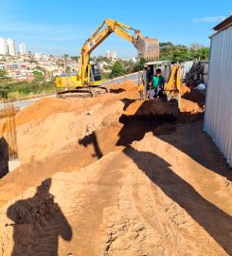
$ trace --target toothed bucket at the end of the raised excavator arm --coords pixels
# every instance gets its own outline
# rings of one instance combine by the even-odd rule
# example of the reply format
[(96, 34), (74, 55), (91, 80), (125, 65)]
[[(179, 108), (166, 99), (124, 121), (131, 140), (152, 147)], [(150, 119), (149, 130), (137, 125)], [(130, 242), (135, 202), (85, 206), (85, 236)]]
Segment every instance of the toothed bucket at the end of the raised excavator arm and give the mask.
[(134, 40), (134, 47), (147, 61), (159, 59), (159, 42), (156, 38), (138, 37), (138, 39)]

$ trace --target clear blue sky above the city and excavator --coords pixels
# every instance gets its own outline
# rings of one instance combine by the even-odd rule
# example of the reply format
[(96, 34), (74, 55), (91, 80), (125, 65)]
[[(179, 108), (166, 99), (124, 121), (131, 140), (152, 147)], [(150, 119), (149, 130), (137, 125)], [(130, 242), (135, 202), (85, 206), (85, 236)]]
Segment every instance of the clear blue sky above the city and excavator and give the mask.
[[(160, 42), (209, 46), (211, 28), (231, 11), (231, 0), (0, 0), (0, 37), (24, 42), (32, 52), (79, 55), (98, 25), (115, 19)], [(93, 55), (113, 49), (119, 57), (136, 55), (114, 34)]]

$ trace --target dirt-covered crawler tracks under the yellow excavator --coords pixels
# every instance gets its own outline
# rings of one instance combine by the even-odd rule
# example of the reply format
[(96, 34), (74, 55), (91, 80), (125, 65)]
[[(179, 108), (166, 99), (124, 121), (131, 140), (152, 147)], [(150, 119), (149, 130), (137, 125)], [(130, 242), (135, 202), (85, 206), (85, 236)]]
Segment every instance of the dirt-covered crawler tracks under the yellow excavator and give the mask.
[(57, 93), (57, 98), (93, 98), (100, 94), (109, 93), (110, 88), (105, 86), (88, 86), (83, 88), (77, 88), (74, 90), (66, 90)]

